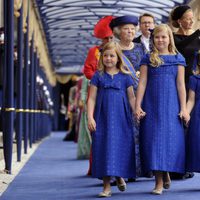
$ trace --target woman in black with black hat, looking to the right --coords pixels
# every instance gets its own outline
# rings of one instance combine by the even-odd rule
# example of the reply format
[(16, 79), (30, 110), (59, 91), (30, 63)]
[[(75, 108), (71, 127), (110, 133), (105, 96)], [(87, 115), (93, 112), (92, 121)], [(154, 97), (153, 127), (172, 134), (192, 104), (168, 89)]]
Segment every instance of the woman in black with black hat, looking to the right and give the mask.
[(170, 17), (173, 27), (177, 28), (177, 31), (174, 33), (176, 48), (185, 57), (187, 64), (185, 71), (185, 82), (187, 86), (189, 77), (192, 75), (195, 52), (200, 50), (200, 29), (196, 31), (193, 29), (194, 13), (188, 5), (175, 7)]

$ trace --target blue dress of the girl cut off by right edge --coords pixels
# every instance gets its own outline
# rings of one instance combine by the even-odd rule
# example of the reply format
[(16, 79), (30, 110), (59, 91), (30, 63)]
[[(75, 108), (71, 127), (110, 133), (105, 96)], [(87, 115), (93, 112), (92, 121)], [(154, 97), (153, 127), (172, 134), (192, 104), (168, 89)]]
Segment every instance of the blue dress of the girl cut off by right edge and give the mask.
[(200, 172), (200, 75), (190, 77), (189, 88), (195, 92), (195, 105), (186, 135), (186, 170)]

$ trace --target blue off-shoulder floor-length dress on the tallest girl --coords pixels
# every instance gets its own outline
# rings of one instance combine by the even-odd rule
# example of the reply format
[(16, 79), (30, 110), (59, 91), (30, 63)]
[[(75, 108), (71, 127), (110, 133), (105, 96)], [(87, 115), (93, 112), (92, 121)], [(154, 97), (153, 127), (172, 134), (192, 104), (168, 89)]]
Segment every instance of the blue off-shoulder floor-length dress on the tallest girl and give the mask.
[(141, 61), (148, 68), (142, 104), (146, 116), (140, 124), (142, 167), (145, 172), (184, 173), (185, 138), (176, 79), (178, 65), (185, 66), (185, 60), (181, 54), (160, 57), (164, 64), (159, 67), (150, 65), (149, 54)]

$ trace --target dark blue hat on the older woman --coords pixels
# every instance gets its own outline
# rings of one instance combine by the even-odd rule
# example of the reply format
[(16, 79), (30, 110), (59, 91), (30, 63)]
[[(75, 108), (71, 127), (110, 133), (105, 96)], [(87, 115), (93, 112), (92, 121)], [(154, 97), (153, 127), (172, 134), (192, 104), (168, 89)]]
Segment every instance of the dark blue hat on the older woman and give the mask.
[(135, 16), (131, 16), (131, 15), (116, 17), (111, 21), (110, 28), (113, 29), (114, 27), (125, 25), (125, 24), (133, 24), (133, 25), (137, 26), (138, 18)]

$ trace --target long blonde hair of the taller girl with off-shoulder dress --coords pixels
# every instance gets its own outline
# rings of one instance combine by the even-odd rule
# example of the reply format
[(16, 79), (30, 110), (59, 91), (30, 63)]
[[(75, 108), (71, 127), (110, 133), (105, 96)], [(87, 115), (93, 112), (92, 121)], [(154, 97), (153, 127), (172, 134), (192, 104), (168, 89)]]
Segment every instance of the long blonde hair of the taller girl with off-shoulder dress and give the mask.
[(178, 53), (178, 50), (176, 49), (175, 44), (174, 44), (174, 37), (173, 37), (171, 28), (167, 24), (160, 24), (160, 25), (156, 26), (152, 33), (153, 51), (150, 54), (150, 61), (151, 61), (151, 65), (153, 67), (158, 67), (158, 66), (164, 64), (163, 60), (159, 57), (159, 51), (154, 44), (155, 35), (161, 31), (165, 31), (169, 35), (169, 46), (168, 46), (169, 53), (170, 54)]

